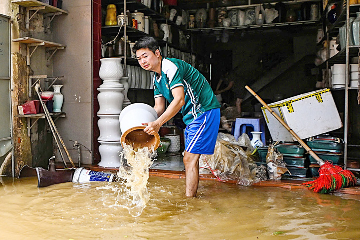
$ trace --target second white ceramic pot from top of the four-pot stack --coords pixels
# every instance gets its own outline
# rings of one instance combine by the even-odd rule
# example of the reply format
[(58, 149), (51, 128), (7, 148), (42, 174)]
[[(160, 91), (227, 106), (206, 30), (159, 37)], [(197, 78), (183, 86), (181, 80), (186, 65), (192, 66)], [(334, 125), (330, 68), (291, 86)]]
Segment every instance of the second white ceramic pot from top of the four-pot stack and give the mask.
[(98, 88), (98, 114), (120, 114), (124, 102), (124, 87)]

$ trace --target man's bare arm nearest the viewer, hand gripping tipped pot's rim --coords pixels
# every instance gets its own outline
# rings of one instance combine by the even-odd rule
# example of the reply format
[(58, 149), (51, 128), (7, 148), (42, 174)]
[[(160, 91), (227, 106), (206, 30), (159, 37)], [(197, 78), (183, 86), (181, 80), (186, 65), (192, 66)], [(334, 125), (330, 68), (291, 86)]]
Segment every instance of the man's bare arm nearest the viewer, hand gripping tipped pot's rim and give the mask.
[(170, 105), (165, 110), (165, 112), (161, 114), (161, 116), (157, 120), (143, 123), (143, 125), (147, 125), (147, 127), (145, 127), (144, 129), (144, 132), (146, 132), (147, 134), (154, 135), (155, 133), (157, 133), (160, 127), (165, 122), (173, 118), (180, 111), (182, 106), (184, 106), (185, 104), (184, 88), (182, 86), (175, 87), (173, 88), (173, 90), (171, 90), (171, 93), (173, 94), (174, 100), (170, 103)]

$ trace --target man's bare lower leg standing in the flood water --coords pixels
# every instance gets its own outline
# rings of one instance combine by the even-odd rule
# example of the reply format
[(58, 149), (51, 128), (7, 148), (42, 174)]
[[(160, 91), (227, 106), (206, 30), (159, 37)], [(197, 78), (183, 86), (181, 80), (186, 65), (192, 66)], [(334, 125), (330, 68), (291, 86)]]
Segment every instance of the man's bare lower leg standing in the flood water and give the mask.
[(184, 165), (186, 176), (186, 191), (187, 197), (195, 197), (197, 188), (199, 186), (199, 159), (200, 154), (184, 153)]

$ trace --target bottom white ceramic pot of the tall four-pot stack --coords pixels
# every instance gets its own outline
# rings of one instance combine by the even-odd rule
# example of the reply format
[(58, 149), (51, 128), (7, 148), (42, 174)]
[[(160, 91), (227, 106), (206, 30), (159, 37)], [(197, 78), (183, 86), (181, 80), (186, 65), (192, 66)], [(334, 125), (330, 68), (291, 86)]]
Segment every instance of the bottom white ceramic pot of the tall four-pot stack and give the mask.
[(100, 143), (99, 153), (101, 161), (99, 166), (101, 167), (119, 167), (120, 166), (120, 152), (123, 150), (120, 141), (118, 142), (105, 142), (98, 141)]

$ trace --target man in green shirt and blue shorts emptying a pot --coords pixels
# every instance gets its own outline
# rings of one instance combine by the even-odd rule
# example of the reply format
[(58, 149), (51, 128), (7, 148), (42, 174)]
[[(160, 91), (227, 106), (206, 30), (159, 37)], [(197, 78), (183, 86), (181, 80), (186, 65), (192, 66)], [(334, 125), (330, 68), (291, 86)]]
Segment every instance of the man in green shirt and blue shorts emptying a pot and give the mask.
[[(190, 64), (161, 56), (159, 45), (152, 37), (143, 37), (133, 46), (133, 52), (142, 68), (155, 72), (154, 109), (158, 119), (144, 131), (155, 134), (160, 127), (182, 113), (185, 128), (185, 165), (187, 197), (195, 197), (199, 184), (199, 158), (201, 154), (214, 154), (220, 123), (220, 105), (203, 75)], [(165, 110), (165, 100), (170, 104)]]

